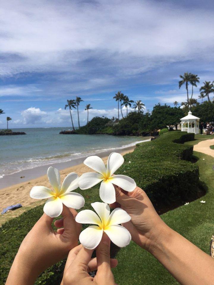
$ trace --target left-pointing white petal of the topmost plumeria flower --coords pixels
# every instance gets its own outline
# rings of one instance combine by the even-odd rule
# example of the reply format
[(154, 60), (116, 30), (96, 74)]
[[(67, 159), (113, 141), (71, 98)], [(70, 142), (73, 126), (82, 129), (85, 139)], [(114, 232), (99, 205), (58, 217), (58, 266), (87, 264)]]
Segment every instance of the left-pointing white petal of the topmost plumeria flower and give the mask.
[(104, 179), (103, 175), (96, 172), (83, 173), (79, 178), (79, 188), (82, 190), (89, 189)]

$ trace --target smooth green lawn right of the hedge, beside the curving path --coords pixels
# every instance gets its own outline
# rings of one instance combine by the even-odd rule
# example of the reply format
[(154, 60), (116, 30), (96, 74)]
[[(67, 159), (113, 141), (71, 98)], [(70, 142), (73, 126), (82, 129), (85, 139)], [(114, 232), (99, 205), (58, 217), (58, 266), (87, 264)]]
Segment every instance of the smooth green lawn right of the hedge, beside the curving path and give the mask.
[[(197, 136), (196, 139), (198, 139)], [(195, 141), (188, 142), (188, 144), (195, 144)], [(194, 152), (194, 155), (199, 159), (196, 163), (199, 166), (200, 180), (205, 182), (208, 187), (207, 193), (203, 197), (206, 203), (200, 203), (201, 199), (199, 199), (171, 210), (163, 214), (161, 218), (172, 229), (209, 254), (210, 238), (214, 234), (214, 181), (212, 168), (214, 159), (199, 152)], [(203, 158), (205, 160), (202, 160)], [(126, 248), (122, 248), (118, 252), (117, 258), (119, 266), (114, 269), (114, 275), (118, 284), (179, 284), (151, 254), (139, 248), (133, 242)]]

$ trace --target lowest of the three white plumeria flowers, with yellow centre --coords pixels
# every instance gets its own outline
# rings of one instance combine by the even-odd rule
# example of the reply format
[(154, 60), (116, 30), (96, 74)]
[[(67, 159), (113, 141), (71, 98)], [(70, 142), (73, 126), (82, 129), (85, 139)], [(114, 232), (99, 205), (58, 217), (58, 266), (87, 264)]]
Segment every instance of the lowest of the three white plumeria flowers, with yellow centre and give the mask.
[(79, 236), (81, 244), (85, 248), (94, 249), (105, 232), (117, 246), (127, 246), (131, 240), (130, 232), (119, 224), (130, 221), (131, 217), (121, 208), (114, 209), (110, 215), (110, 208), (106, 203), (95, 202), (91, 205), (98, 215), (92, 210), (83, 210), (75, 218), (75, 221), (81, 224), (97, 225), (89, 226), (81, 232)]

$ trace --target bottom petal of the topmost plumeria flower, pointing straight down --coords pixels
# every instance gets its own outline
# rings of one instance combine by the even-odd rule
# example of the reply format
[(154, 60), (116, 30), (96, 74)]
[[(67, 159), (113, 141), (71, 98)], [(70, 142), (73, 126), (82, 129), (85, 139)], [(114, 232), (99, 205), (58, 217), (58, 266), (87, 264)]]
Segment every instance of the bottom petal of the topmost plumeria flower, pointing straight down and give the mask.
[(114, 186), (108, 180), (102, 181), (100, 185), (100, 199), (108, 204), (116, 201)]

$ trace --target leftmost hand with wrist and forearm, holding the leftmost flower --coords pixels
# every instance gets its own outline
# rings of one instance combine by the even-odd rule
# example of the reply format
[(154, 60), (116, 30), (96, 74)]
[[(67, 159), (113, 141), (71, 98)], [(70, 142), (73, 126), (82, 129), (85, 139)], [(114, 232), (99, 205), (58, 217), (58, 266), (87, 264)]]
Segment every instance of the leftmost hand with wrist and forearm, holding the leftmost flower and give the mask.
[(53, 218), (44, 213), (22, 241), (6, 285), (34, 284), (40, 273), (66, 258), (78, 245), (81, 224), (74, 221), (76, 215), (74, 209), (63, 205), (63, 218), (54, 223), (60, 229), (54, 232)]

